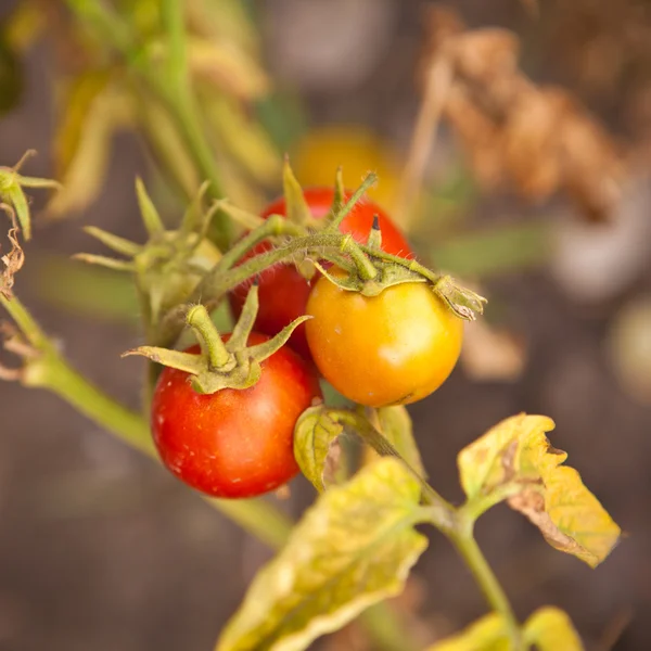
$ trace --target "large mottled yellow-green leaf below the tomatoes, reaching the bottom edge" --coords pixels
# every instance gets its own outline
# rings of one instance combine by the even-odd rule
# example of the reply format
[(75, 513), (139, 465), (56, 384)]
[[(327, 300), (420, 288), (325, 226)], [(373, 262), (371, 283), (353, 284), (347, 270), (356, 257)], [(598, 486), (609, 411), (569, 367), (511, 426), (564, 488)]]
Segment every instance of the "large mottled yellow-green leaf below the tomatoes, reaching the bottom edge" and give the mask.
[(412, 528), (419, 497), (396, 459), (321, 495), (258, 573), (217, 651), (299, 651), (398, 593), (426, 547)]

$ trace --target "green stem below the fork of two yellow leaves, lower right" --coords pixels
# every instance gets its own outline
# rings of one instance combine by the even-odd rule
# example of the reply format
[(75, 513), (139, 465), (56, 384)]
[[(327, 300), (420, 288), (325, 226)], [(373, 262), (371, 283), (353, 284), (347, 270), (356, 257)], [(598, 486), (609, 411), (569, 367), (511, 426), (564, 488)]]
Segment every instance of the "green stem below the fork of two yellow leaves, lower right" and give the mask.
[(448, 537), (472, 572), (490, 608), (503, 618), (509, 631), (512, 649), (521, 651), (522, 635), (520, 625), (507, 595), (474, 538), (473, 525), (473, 520), (458, 516), (457, 526), (452, 533), (448, 534)]

